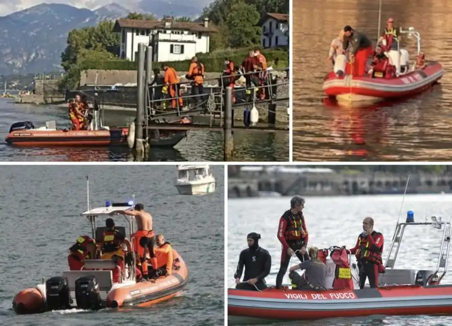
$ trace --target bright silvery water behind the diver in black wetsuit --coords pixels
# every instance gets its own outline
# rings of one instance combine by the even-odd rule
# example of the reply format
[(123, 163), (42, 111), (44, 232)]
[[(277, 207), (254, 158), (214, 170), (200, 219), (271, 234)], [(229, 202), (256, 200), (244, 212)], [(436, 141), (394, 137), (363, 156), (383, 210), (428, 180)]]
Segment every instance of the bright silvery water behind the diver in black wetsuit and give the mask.
[[(356, 196), (356, 197), (308, 197), (304, 215), (309, 232), (309, 244), (318, 248), (332, 245), (354, 246), (357, 235), (362, 232), (363, 218), (375, 219), (375, 229), (385, 235), (387, 245), (383, 258), (389, 250), (402, 196)], [(402, 209), (414, 211), (417, 222), (425, 216), (452, 216), (452, 195), (407, 195)], [(261, 234), (259, 244), (272, 255), (272, 270), (266, 281), (275, 284), (280, 266), (281, 243), (277, 239), (278, 221), (288, 210), (290, 197), (229, 199), (228, 200), (228, 278), (226, 283), (232, 286), (234, 272), (240, 251), (247, 247), (246, 235), (249, 232)], [(401, 220), (405, 218), (402, 216)], [(240, 225), (240, 227), (235, 227)], [(396, 268), (434, 269), (436, 266), (442, 230), (424, 226), (412, 226), (405, 230), (402, 244), (397, 255)], [(419, 239), (423, 244), (419, 244)], [(291, 266), (299, 261), (292, 259)], [(288, 275), (284, 283), (289, 282)], [(452, 282), (452, 273), (446, 274), (443, 284)], [(312, 326), (425, 326), (450, 325), (452, 317), (445, 316), (370, 316), (360, 318), (337, 318), (309, 322), (282, 322), (280, 325)]]

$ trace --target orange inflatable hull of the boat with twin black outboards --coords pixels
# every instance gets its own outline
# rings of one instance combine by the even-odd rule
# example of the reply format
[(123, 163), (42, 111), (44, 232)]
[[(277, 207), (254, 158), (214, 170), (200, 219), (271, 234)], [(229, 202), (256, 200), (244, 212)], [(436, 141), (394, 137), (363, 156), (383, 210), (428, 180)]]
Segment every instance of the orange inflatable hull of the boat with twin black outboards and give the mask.
[[(102, 308), (149, 306), (179, 294), (188, 282), (189, 272), (184, 260), (174, 249), (173, 258), (173, 269), (169, 276), (159, 277), (151, 281), (133, 282), (130, 285), (115, 283), (104, 298)], [(81, 272), (84, 275), (89, 274), (89, 271), (86, 270)], [(14, 311), (17, 314), (48, 311), (45, 304), (45, 292), (45, 284), (20, 291), (13, 299)], [(73, 299), (72, 307), (76, 308), (75, 291), (71, 290), (70, 295)]]

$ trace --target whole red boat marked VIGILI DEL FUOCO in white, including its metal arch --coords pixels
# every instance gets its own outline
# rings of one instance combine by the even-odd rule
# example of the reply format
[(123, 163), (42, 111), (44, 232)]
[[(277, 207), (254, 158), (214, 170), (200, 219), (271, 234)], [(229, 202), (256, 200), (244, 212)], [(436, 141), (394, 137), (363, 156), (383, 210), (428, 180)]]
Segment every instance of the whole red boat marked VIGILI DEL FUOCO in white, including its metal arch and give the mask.
[[(416, 223), (414, 215), (409, 211), (406, 222), (397, 223), (385, 262), (386, 270), (379, 274), (378, 288), (370, 288), (367, 284), (365, 288), (359, 289), (358, 270), (354, 256), (351, 255), (348, 257), (348, 277), (352, 278), (353, 286), (348, 288), (333, 286), (337, 262), (334, 263), (331, 259), (326, 259), (326, 290), (297, 290), (289, 289), (288, 286), (282, 289), (270, 287), (255, 291), (229, 288), (228, 323), (249, 323), (262, 319), (268, 321), (358, 317), (374, 314), (452, 315), (452, 284), (439, 285), (447, 271), (449, 243), (452, 236), (450, 223), (451, 220), (442, 222), (436, 217), (432, 217), (428, 222), (426, 219), (425, 222)], [(395, 269), (394, 265), (405, 228), (428, 225), (443, 229), (436, 269)], [(343, 266), (338, 264), (337, 267), (337, 275), (340, 275), (340, 269)]]

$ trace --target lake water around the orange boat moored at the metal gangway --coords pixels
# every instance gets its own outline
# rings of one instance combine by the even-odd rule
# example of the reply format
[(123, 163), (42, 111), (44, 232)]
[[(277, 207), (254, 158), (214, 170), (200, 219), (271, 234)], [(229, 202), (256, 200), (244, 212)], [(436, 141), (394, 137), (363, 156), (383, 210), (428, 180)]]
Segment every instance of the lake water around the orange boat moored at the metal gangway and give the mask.
[[(134, 112), (105, 111), (105, 124), (126, 125)], [(7, 146), (5, 137), (11, 124), (32, 121), (35, 126), (55, 120), (57, 126), (67, 127), (65, 108), (14, 104), (11, 99), (0, 99), (0, 161), (134, 161), (127, 149), (108, 148), (14, 148)], [(235, 161), (288, 161), (289, 134), (234, 131)], [(223, 133), (192, 130), (188, 138), (174, 148), (151, 148), (150, 161), (223, 161)]]

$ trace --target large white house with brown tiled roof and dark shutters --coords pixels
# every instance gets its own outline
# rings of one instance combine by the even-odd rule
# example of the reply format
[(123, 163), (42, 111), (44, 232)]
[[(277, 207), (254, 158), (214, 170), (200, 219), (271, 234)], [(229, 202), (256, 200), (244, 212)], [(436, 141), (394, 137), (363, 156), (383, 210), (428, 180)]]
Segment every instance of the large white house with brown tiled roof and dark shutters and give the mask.
[(138, 44), (152, 46), (153, 61), (180, 61), (191, 59), (196, 53), (210, 51), (210, 35), (217, 32), (206, 18), (202, 23), (119, 19), (113, 28), (121, 33), (119, 56), (136, 60)]

